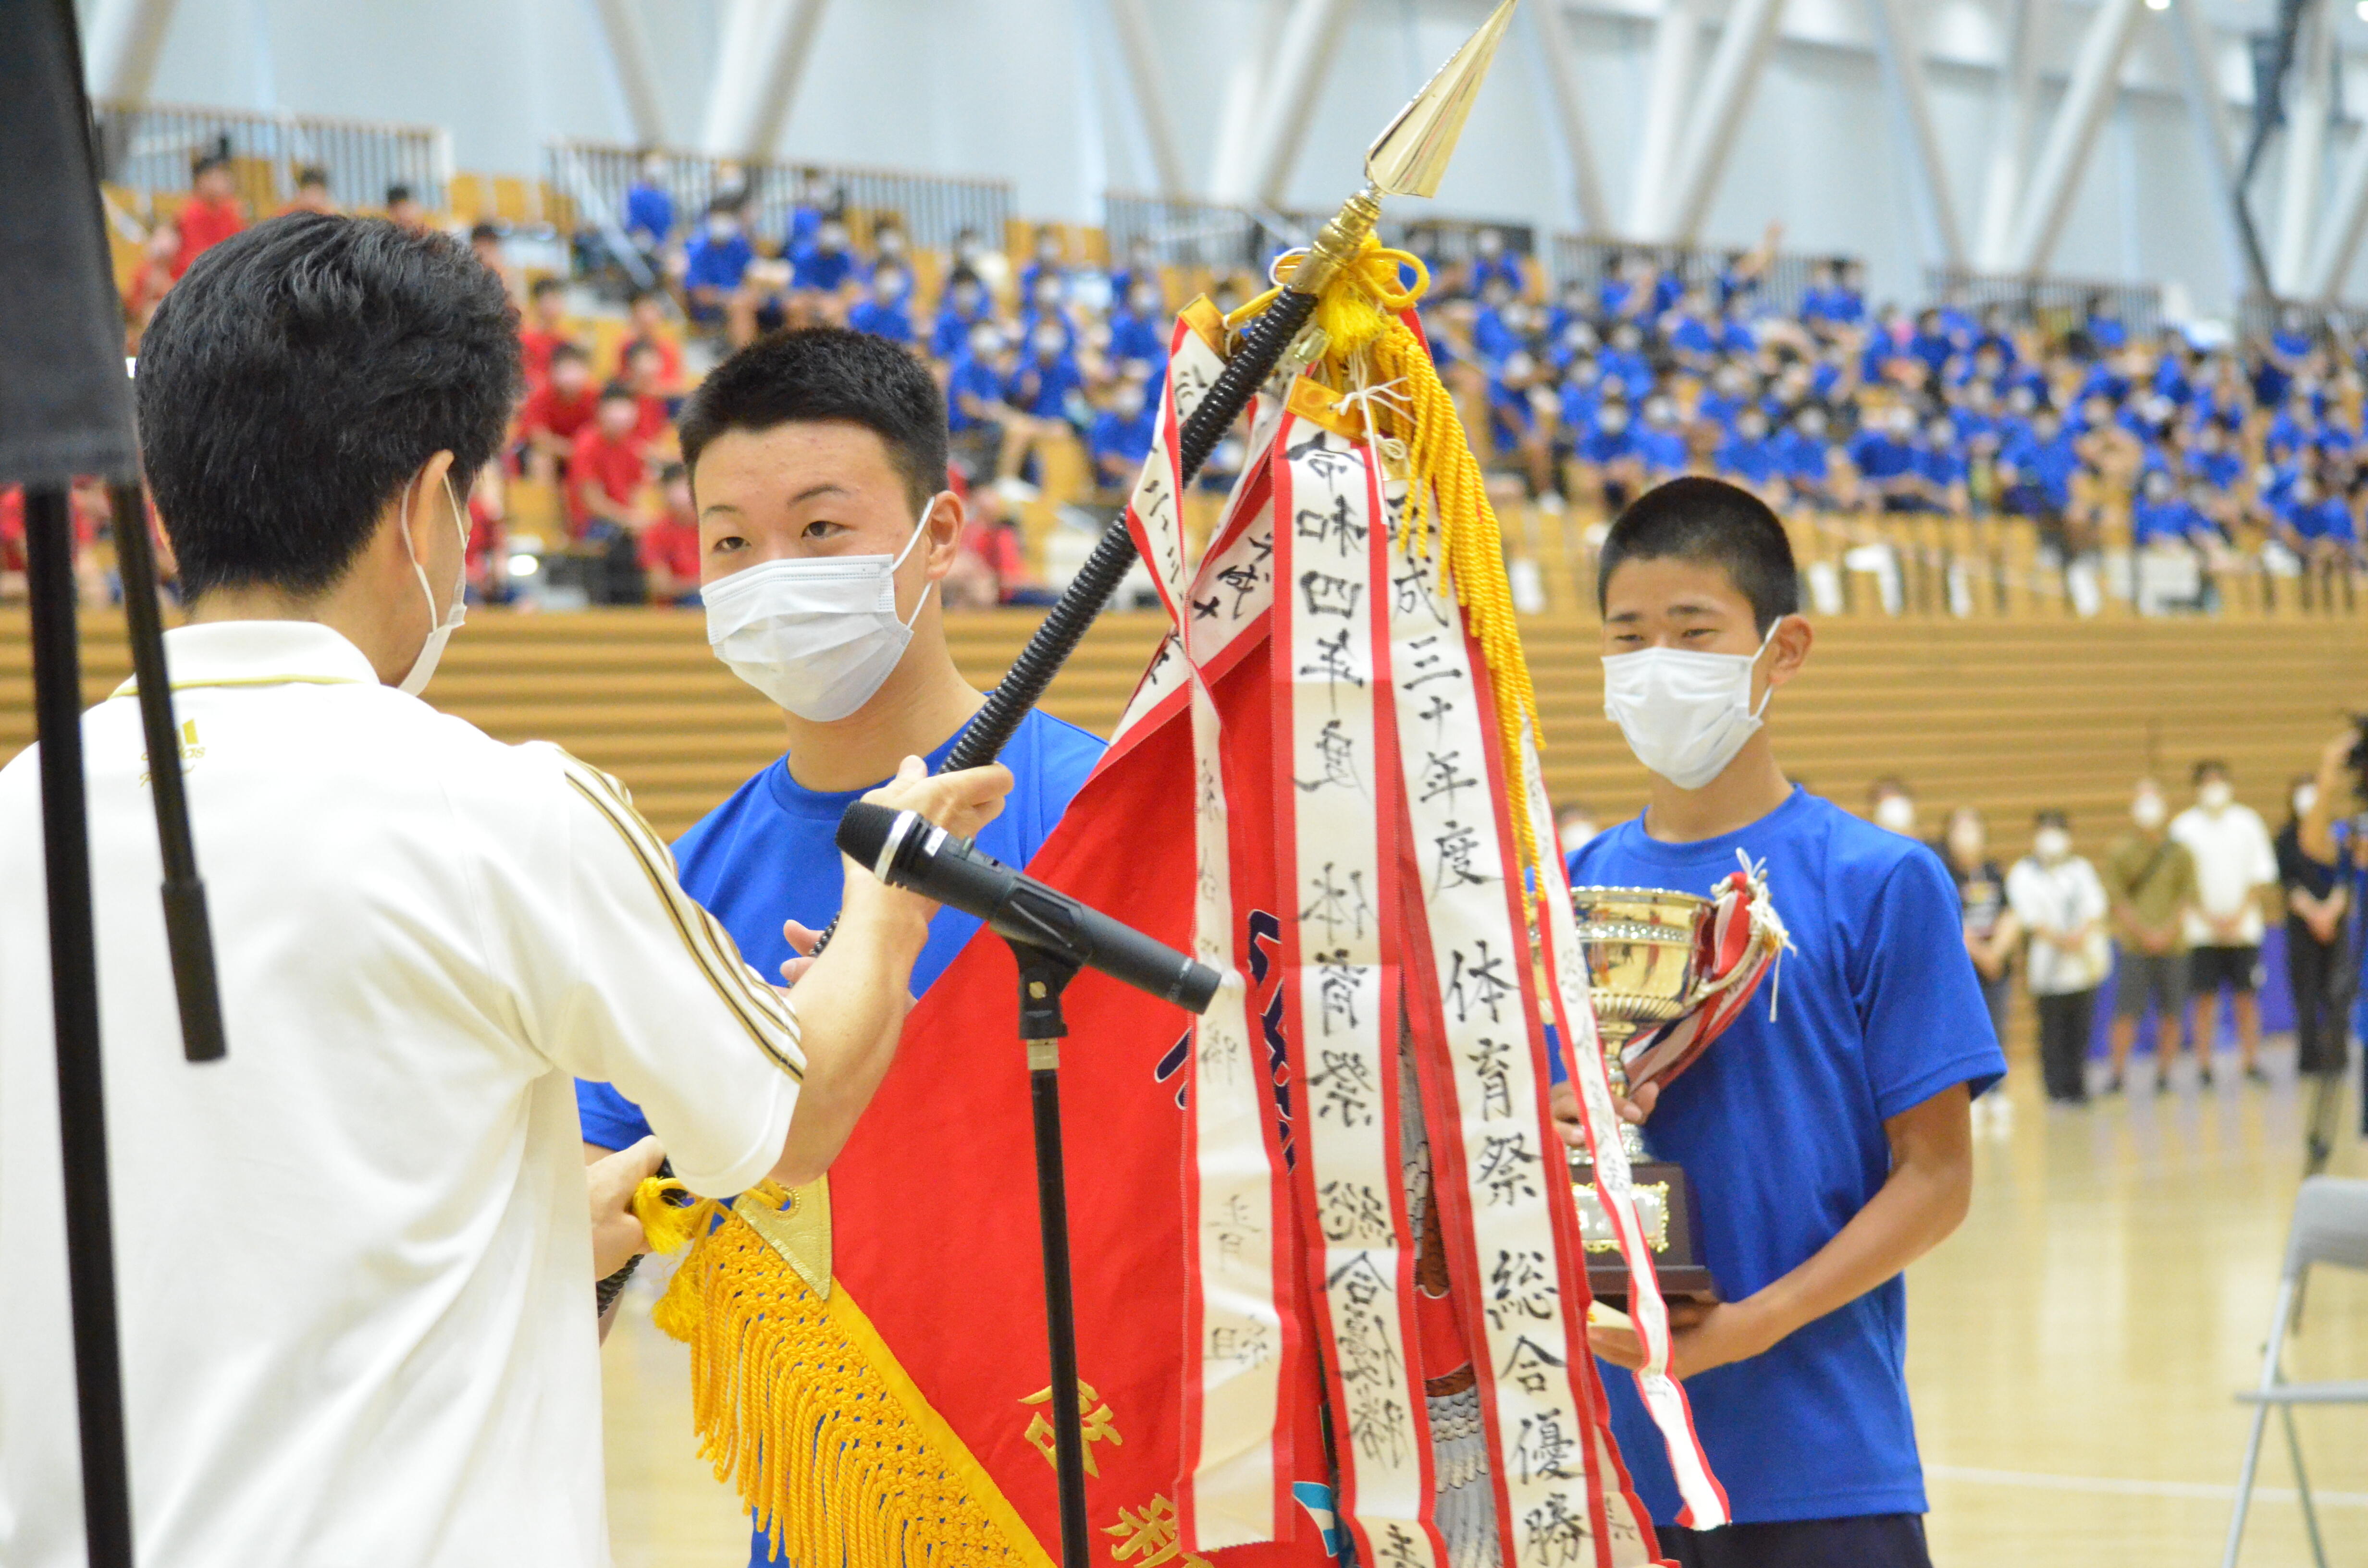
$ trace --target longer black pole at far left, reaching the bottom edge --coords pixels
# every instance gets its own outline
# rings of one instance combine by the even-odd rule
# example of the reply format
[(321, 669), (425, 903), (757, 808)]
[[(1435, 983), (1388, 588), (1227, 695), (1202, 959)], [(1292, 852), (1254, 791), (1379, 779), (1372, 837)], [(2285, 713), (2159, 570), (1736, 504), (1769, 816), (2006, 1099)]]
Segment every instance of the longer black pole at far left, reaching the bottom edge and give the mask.
[[(73, 519), (59, 486), (26, 488), (26, 597), (33, 606), (33, 718), (40, 737), (40, 848), (50, 893), (50, 1007), (57, 1028), (57, 1137), (66, 1175), (66, 1284), (83, 1433), (90, 1568), (130, 1568), (133, 1499), (116, 1350), (116, 1241), (107, 1199), (99, 969), (83, 798), (83, 661), (73, 644)], [(175, 753), (178, 758), (178, 753)]]

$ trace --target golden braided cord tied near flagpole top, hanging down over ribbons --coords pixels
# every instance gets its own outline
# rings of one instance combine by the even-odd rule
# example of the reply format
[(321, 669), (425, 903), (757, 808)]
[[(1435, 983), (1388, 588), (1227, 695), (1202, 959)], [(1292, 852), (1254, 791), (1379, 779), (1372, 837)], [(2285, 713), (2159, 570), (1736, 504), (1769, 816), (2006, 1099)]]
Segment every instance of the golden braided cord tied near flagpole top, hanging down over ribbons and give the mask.
[[(1286, 251), (1274, 261), (1276, 282), (1288, 279), (1305, 251)], [(1414, 284), (1399, 282), (1399, 270), (1414, 272)], [(1513, 841), (1520, 869), (1537, 869), (1537, 824), (1530, 822), (1523, 775), (1523, 727), (1539, 732), (1537, 689), (1530, 685), (1530, 661), (1520, 651), (1520, 628), (1513, 621), (1513, 585), (1504, 576), (1504, 531), (1487, 502), (1487, 481), (1463, 436), (1456, 400), (1440, 381), (1437, 367), (1421, 339), (1399, 320), (1430, 287), (1430, 270), (1409, 251), (1392, 251), (1366, 234), (1357, 256), (1324, 284), (1317, 296), (1314, 324), (1324, 332), (1324, 355), (1310, 374), (1343, 393), (1357, 396), (1366, 419), (1383, 443), (1404, 450), (1407, 505), (1399, 512), (1397, 547), (1409, 559), (1428, 559), (1437, 538), (1447, 580), (1466, 623), (1480, 642), (1489, 685), (1497, 692), (1497, 746), (1504, 758), (1506, 808), (1513, 817)], [(1260, 294), (1227, 315), (1236, 327), (1267, 308), (1281, 289)], [(1539, 881), (1527, 876), (1527, 886)]]

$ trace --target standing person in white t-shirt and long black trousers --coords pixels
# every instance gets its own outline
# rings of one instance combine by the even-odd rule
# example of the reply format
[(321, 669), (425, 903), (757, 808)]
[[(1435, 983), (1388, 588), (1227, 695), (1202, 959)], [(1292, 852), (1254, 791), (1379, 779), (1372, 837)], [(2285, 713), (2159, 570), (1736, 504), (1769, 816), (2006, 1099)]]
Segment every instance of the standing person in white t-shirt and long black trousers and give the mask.
[(2072, 824), (2060, 810), (2032, 820), (2032, 853), (2006, 874), (2006, 902), (2032, 938), (2022, 983), (2039, 1011), (2039, 1075), (2048, 1101), (2086, 1104), (2096, 990), (2112, 969), (2105, 940), (2112, 900), (2096, 867), (2072, 853)]

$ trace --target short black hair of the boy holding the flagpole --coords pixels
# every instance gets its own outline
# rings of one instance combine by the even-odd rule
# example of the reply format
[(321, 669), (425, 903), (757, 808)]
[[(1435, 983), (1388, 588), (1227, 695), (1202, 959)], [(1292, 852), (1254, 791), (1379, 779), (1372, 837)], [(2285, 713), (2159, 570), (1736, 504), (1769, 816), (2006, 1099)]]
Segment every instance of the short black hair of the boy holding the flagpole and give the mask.
[(912, 351), (845, 327), (762, 336), (708, 372), (682, 407), (682, 462), (725, 431), (843, 419), (888, 448), (912, 505), (945, 488), (945, 393)]

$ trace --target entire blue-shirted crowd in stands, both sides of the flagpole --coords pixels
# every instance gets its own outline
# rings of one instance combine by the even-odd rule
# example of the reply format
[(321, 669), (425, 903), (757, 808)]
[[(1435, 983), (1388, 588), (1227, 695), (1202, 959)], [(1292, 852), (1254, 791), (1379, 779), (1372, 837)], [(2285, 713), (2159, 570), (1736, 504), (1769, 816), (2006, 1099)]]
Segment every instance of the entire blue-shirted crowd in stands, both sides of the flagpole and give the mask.
[[(857, 239), (822, 180), (777, 234), (755, 232), (739, 194), (680, 223), (658, 173), (628, 192), (623, 223), (668, 261), (694, 322), (732, 343), (784, 322), (909, 343), (938, 367), (976, 476), (1035, 474), (1061, 436), (1087, 445), (1096, 488), (1132, 481), (1182, 303), (1148, 246), (1087, 268), (1044, 227), (1018, 265), (976, 232), (924, 258), (893, 216), (869, 213)], [(2124, 545), (2361, 559), (2368, 351), (2299, 320), (2235, 343), (2131, 332), (2110, 294), (2048, 320), (1871, 308), (1842, 258), (1778, 291), (1774, 234), (1714, 268), (1624, 251), (1551, 284), (1478, 230), (1430, 270), (1440, 369), (1492, 467), (1546, 507), (1617, 507), (1707, 471), (1812, 514), (2022, 516), (2065, 561)], [(1222, 284), (1217, 303), (1248, 287)]]

